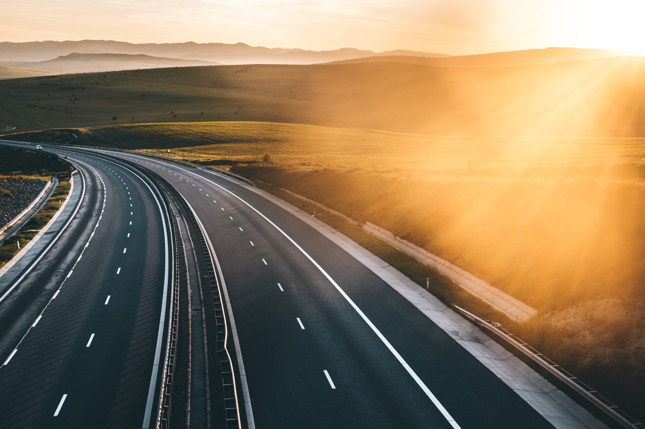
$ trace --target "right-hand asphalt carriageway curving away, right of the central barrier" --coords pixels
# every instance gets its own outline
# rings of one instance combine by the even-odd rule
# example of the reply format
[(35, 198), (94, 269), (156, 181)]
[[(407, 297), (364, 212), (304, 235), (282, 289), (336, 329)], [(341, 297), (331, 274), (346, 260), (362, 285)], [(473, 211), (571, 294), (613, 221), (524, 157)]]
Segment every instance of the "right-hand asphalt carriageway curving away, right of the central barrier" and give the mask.
[(283, 208), (202, 170), (119, 156), (168, 179), (204, 224), (248, 381), (240, 408), (250, 399), (258, 428), (553, 427), (381, 278)]

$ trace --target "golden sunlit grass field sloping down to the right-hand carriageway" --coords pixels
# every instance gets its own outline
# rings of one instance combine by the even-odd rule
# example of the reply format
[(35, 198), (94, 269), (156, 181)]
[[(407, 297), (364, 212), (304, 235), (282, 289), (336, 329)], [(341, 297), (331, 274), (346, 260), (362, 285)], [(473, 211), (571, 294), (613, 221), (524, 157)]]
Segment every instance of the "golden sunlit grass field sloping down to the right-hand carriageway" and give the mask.
[[(284, 123), (94, 127), (79, 143), (232, 167), (371, 221), (539, 310), (513, 324), (335, 216), (323, 221), (419, 284), (502, 322), (639, 413), (645, 380), (645, 140), (450, 138)], [(55, 140), (55, 131), (16, 134)], [(64, 139), (63, 139), (64, 140)], [(270, 152), (275, 163), (260, 161)], [(303, 201), (273, 193), (312, 211)]]

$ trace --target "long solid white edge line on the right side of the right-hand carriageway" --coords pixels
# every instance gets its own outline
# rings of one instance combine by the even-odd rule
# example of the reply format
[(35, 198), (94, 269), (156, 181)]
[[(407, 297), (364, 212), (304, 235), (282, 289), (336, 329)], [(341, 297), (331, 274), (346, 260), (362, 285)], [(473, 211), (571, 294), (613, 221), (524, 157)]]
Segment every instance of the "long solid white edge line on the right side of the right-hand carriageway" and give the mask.
[[(137, 158), (142, 158), (142, 157), (137, 157)], [(171, 165), (171, 164), (163, 163), (163, 162), (161, 162), (161, 161), (156, 161), (156, 160), (155, 160), (155, 162), (159, 162), (159, 163), (164, 164), (164, 165)], [(173, 167), (175, 167), (175, 166), (173, 166)], [(459, 424), (457, 424), (457, 422), (455, 421), (455, 419), (453, 419), (452, 415), (450, 415), (450, 413), (448, 413), (448, 410), (446, 410), (446, 408), (444, 408), (444, 406), (441, 404), (441, 402), (439, 402), (439, 399), (437, 399), (437, 397), (435, 397), (435, 396), (434, 396), (434, 394), (430, 391), (430, 389), (428, 388), (428, 386), (426, 386), (426, 384), (423, 382), (423, 380), (422, 380), (421, 378), (419, 378), (419, 376), (417, 375), (417, 373), (416, 373), (416, 372), (414, 372), (414, 370), (410, 367), (410, 365), (408, 365), (408, 363), (407, 363), (407, 362), (402, 358), (401, 354), (399, 354), (399, 352), (397, 352), (397, 351), (396, 351), (396, 349), (394, 349), (394, 347), (392, 346), (392, 344), (390, 344), (390, 342), (387, 340), (387, 338), (385, 338), (385, 337), (383, 336), (383, 334), (381, 333), (381, 331), (379, 331), (379, 329), (378, 329), (378, 328), (377, 328), (377, 327), (372, 323), (372, 321), (371, 321), (371, 320), (370, 320), (370, 319), (369, 319), (369, 318), (368, 318), (368, 317), (367, 317), (367, 316), (366, 316), (366, 315), (361, 311), (361, 309), (359, 308), (359, 306), (357, 306), (357, 305), (355, 304), (355, 302), (353, 302), (352, 298), (350, 298), (350, 297), (349, 297), (349, 295), (347, 295), (347, 294), (345, 293), (345, 291), (344, 291), (344, 290), (342, 290), (342, 288), (341, 288), (341, 287), (340, 287), (340, 286), (335, 282), (335, 280), (333, 280), (333, 278), (332, 278), (332, 277), (331, 277), (331, 276), (330, 276), (330, 275), (329, 275), (329, 274), (328, 274), (328, 273), (323, 269), (323, 267), (321, 267), (321, 266), (318, 264), (318, 262), (316, 262), (316, 261), (315, 261), (315, 260), (314, 260), (314, 259), (313, 259), (313, 258), (312, 258), (312, 257), (311, 257), (311, 256), (310, 256), (310, 255), (309, 255), (309, 254), (308, 254), (308, 253), (307, 253), (303, 248), (301, 248), (301, 246), (300, 246), (297, 242), (295, 242), (295, 241), (294, 241), (294, 240), (293, 240), (293, 239), (292, 239), (292, 238), (291, 238), (291, 237), (290, 237), (286, 232), (284, 232), (283, 230), (281, 230), (281, 228), (280, 228), (279, 226), (277, 226), (275, 223), (273, 223), (273, 221), (271, 221), (271, 219), (269, 219), (269, 218), (268, 218), (268, 217), (266, 217), (264, 214), (262, 214), (262, 212), (260, 212), (259, 210), (257, 210), (257, 208), (253, 207), (252, 205), (250, 205), (249, 203), (247, 203), (246, 201), (244, 201), (244, 199), (242, 199), (241, 197), (237, 196), (236, 194), (233, 194), (233, 192), (232, 192), (232, 191), (230, 191), (230, 190), (228, 190), (228, 189), (224, 188), (224, 187), (223, 187), (223, 186), (221, 186), (221, 185), (218, 185), (217, 183), (215, 183), (215, 182), (213, 182), (213, 181), (211, 181), (211, 180), (209, 180), (209, 179), (204, 178), (203, 176), (199, 176), (199, 174), (194, 173), (194, 172), (192, 172), (192, 171), (190, 171), (190, 170), (182, 169), (181, 167), (175, 167), (175, 168), (176, 168), (176, 169), (179, 169), (179, 170), (183, 170), (183, 171), (188, 172), (188, 173), (190, 173), (190, 174), (193, 174), (194, 176), (197, 176), (198, 178), (204, 179), (204, 180), (206, 180), (206, 181), (208, 181), (208, 182), (212, 183), (212, 184), (213, 184), (213, 185), (215, 185), (216, 187), (221, 188), (221, 189), (222, 189), (222, 190), (224, 190), (225, 192), (228, 192), (228, 194), (230, 194), (230, 195), (232, 195), (233, 197), (235, 197), (235, 198), (239, 199), (239, 201), (241, 201), (241, 202), (242, 202), (242, 203), (244, 203), (246, 206), (248, 206), (249, 208), (251, 208), (254, 212), (256, 212), (257, 214), (259, 214), (261, 217), (263, 217), (263, 218), (264, 218), (268, 223), (270, 223), (270, 224), (273, 226), (273, 228), (277, 229), (280, 233), (282, 233), (282, 235), (284, 235), (284, 237), (286, 237), (286, 239), (288, 239), (290, 242), (292, 242), (292, 244), (293, 244), (293, 245), (294, 245), (298, 250), (300, 250), (300, 251), (303, 253), (303, 255), (304, 255), (307, 259), (309, 259), (309, 260), (312, 262), (312, 264), (313, 264), (316, 268), (318, 268), (318, 269), (319, 269), (319, 271), (321, 271), (321, 273), (323, 273), (324, 277), (326, 277), (326, 278), (327, 278), (327, 279), (328, 279), (328, 280), (333, 284), (333, 286), (337, 289), (337, 291), (339, 291), (339, 292), (341, 293), (342, 297), (343, 297), (343, 298), (345, 298), (345, 300), (347, 300), (347, 302), (349, 302), (349, 304), (350, 304), (350, 305), (353, 307), (353, 309), (354, 309), (354, 310), (359, 314), (359, 316), (361, 316), (362, 320), (364, 320), (364, 322), (365, 322), (365, 323), (366, 323), (370, 328), (372, 328), (372, 331), (373, 331), (373, 332), (374, 332), (374, 333), (379, 337), (379, 339), (381, 339), (381, 342), (382, 342), (382, 343), (383, 343), (383, 344), (388, 348), (388, 350), (390, 350), (390, 352), (392, 352), (392, 354), (394, 355), (394, 357), (399, 361), (399, 363), (401, 363), (402, 367), (403, 367), (403, 368), (408, 372), (408, 374), (410, 374), (410, 376), (412, 376), (412, 378), (414, 379), (414, 381), (416, 381), (416, 382), (417, 382), (417, 385), (419, 385), (419, 387), (421, 387), (421, 390), (423, 390), (423, 392), (426, 394), (426, 396), (428, 396), (428, 398), (430, 398), (430, 401), (432, 401), (432, 403), (437, 407), (437, 409), (439, 410), (439, 412), (441, 412), (441, 414), (442, 414), (442, 415), (444, 416), (444, 418), (448, 421), (448, 423), (450, 423), (450, 425), (451, 425), (454, 429), (461, 429), (461, 428), (460, 428), (460, 426), (459, 426)], [(205, 232), (204, 232), (204, 233), (205, 233)]]

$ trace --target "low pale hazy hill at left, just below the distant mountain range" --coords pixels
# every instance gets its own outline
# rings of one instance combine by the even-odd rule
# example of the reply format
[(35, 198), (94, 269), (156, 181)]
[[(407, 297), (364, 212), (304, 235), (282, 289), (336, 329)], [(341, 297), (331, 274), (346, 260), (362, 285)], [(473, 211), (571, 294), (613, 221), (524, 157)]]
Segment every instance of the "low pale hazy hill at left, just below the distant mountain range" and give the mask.
[[(35, 69), (49, 75), (59, 73), (90, 73), (94, 71), (150, 69), (159, 67), (219, 66), (221, 63), (202, 60), (150, 57), (121, 53), (70, 53), (53, 60), (37, 62), (0, 62), (0, 65)], [(45, 73), (44, 73), (45, 74)]]

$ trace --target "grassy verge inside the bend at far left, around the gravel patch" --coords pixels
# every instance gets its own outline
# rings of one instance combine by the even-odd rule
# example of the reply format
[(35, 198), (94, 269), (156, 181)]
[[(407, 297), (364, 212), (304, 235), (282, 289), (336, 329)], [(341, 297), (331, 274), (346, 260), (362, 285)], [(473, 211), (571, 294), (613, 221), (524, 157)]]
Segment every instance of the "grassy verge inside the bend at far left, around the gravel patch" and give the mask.
[(54, 193), (37, 214), (33, 215), (27, 223), (15, 232), (14, 235), (8, 237), (2, 246), (0, 246), (1, 267), (18, 253), (17, 241), (20, 242), (21, 247), (25, 246), (25, 244), (35, 237), (38, 230), (43, 228), (52, 219), (52, 216), (54, 216), (58, 209), (61, 208), (59, 201), (64, 201), (70, 191), (70, 172), (72, 172), (72, 167), (65, 161), (57, 160), (46, 154), (37, 154), (6, 147), (0, 147), (0, 160), (2, 160), (0, 161), (0, 169), (26, 173), (25, 176), (18, 177), (48, 181), (56, 174), (59, 180)]

